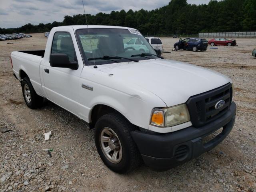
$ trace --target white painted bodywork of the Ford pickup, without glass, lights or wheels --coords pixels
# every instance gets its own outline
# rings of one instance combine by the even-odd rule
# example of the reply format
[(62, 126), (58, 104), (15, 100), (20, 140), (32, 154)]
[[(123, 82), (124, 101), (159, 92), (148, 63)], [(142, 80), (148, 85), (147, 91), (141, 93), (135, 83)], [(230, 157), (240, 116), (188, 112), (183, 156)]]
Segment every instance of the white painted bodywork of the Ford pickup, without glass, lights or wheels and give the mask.
[[(211, 70), (174, 60), (151, 59), (98, 65), (83, 63), (75, 31), (87, 26), (52, 28), (44, 57), (12, 52), (13, 71), (20, 78), (23, 70), (40, 96), (72, 112), (86, 122), (91, 121), (94, 106), (104, 104), (124, 115), (132, 124), (155, 132), (166, 133), (191, 126), (186, 122), (173, 127), (150, 125), (154, 108), (185, 103), (190, 96), (218, 88), (231, 82), (226, 76)], [(89, 26), (110, 28), (110, 26)], [(114, 27), (111, 28), (124, 28)], [(55, 32), (71, 34), (79, 64), (78, 70), (50, 66), (50, 51)], [(46, 73), (44, 69), (49, 69)], [(113, 75), (109, 75), (113, 74)], [(82, 88), (82, 84), (93, 90)]]

